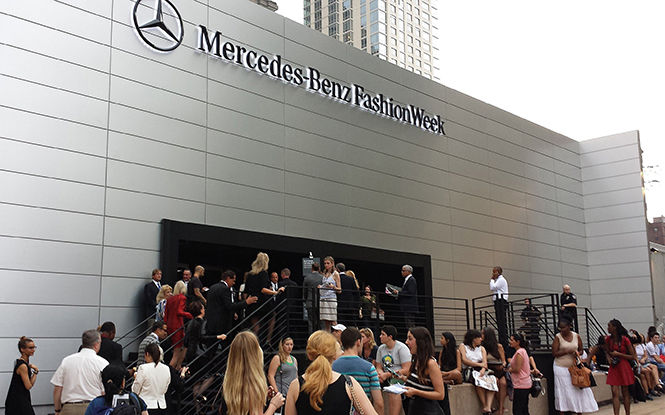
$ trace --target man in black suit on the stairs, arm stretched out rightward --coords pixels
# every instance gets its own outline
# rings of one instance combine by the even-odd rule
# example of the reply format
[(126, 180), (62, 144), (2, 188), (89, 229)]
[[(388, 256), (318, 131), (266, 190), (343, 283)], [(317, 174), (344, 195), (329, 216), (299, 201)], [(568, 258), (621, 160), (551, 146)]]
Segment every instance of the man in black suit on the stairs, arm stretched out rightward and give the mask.
[[(206, 310), (208, 319), (206, 332), (208, 335), (227, 334), (237, 318), (236, 313), (258, 300), (257, 297), (247, 297), (246, 300), (239, 301), (233, 290), (235, 283), (235, 272), (227, 270), (222, 273), (222, 281), (210, 287), (210, 291), (208, 291), (208, 309)], [(230, 340), (227, 339), (227, 341)]]

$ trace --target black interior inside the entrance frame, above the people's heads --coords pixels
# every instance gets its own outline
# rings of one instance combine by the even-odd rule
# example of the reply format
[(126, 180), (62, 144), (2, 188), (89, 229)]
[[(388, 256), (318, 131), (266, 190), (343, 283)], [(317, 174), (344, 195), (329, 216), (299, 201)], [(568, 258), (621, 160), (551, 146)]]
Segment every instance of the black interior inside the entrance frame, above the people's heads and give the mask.
[[(205, 268), (205, 276), (202, 278), (203, 285), (210, 287), (219, 282), (222, 271), (230, 269), (235, 271), (240, 278), (251, 268), (252, 261), (256, 258), (259, 251), (266, 252), (270, 257), (270, 268), (268, 272), (280, 272), (283, 268), (291, 270), (291, 279), (298, 285), (303, 281), (302, 259), (309, 255), (308, 252), (294, 253), (269, 248), (247, 248), (238, 246), (229, 246), (223, 244), (197, 242), (180, 240), (178, 247), (178, 275), (182, 277), (182, 270), (194, 269), (196, 265), (202, 265)], [(323, 257), (329, 253), (312, 252), (319, 258), (319, 263), (323, 262)], [(367, 261), (358, 258), (344, 258), (334, 256), (335, 262), (343, 262), (347, 270), (352, 270), (356, 274), (358, 283), (361, 287), (370, 284), (373, 291), (383, 291), (386, 283), (393, 285), (402, 285), (403, 278), (400, 274), (401, 263), (382, 263)], [(414, 266), (414, 275), (423, 275), (423, 268)], [(418, 286), (419, 294), (424, 294), (423, 284)]]

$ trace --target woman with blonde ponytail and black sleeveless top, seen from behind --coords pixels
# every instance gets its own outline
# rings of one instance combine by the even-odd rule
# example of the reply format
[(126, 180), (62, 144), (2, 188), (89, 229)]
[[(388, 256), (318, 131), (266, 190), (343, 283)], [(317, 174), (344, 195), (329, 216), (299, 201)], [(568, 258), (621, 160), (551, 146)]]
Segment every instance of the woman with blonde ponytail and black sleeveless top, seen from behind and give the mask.
[(352, 377), (332, 370), (337, 340), (323, 330), (307, 340), (307, 358), (312, 361), (305, 374), (289, 386), (286, 415), (348, 415), (351, 405), (366, 415), (377, 415), (362, 386)]

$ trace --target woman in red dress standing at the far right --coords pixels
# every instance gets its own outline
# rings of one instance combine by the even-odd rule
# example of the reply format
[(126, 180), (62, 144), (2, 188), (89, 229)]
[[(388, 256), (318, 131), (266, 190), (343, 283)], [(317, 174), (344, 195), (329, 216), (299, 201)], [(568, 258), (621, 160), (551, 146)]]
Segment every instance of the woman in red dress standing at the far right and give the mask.
[(610, 370), (607, 372), (607, 384), (612, 386), (612, 406), (614, 415), (619, 415), (621, 403), (619, 402), (619, 389), (623, 396), (623, 407), (630, 413), (630, 392), (628, 386), (635, 382), (631, 360), (637, 360), (635, 349), (628, 339), (628, 331), (617, 319), (607, 324), (609, 336), (605, 337), (607, 354), (610, 361)]

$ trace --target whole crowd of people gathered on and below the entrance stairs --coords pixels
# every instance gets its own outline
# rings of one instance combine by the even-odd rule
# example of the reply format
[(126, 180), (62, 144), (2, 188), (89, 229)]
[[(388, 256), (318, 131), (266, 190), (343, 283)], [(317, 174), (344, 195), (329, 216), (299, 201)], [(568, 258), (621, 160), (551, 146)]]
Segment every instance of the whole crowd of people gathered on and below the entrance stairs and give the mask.
[[(446, 385), (463, 382), (474, 385), (483, 415), (503, 414), (508, 397), (513, 402), (513, 414), (529, 413), (529, 396), (537, 383), (534, 379), (542, 375), (530, 348), (536, 343), (533, 325), (540, 311), (530, 302), (522, 311), (525, 324), (507, 335), (505, 344), (501, 337), (506, 328), (500, 325), (498, 336), (489, 327), (468, 330), (459, 345), (451, 332), (443, 332), (437, 353), (430, 331), (412, 324), (418, 313), (412, 267), (402, 267), (401, 289), (386, 288), (386, 293), (395, 295), (400, 302), (408, 331), (400, 336), (394, 325), (385, 324), (375, 335), (371, 327), (362, 324), (368, 321), (368, 315), (378, 311), (371, 289), (365, 287), (361, 294), (354, 274), (344, 264), (335, 264), (332, 257), (326, 257), (323, 271), (319, 272), (314, 263), (312, 273), (305, 278), (305, 284), (318, 295), (310, 297), (309, 290), (303, 291), (303, 305), (312, 313), (319, 313), (320, 327), (313, 324), (316, 320), (310, 320), (312, 334), (306, 345), (297, 345), (288, 336), (277, 339), (276, 353), (264, 371), (263, 349), (257, 334), (267, 334), (264, 348), (272, 350), (271, 320), (275, 316), (264, 314), (269, 317), (267, 324), (265, 318), (252, 319), (246, 330), (235, 335), (230, 331), (239, 313), (249, 311), (247, 315), (253, 316), (261, 305), (266, 308), (264, 313), (270, 313), (271, 301), (276, 302), (287, 287), (296, 286), (288, 269), (269, 274), (268, 263), (265, 253), (257, 255), (240, 292), (234, 289), (233, 271), (222, 273), (221, 281), (207, 289), (201, 282), (205, 273), (201, 266), (195, 267), (193, 274), (185, 270), (183, 279), (173, 288), (162, 285), (161, 271), (154, 270), (152, 281), (144, 287), (145, 298), (151, 301), (146, 312), (150, 310), (154, 322), (139, 344), (136, 365), (128, 369), (123, 363), (122, 347), (114, 341), (116, 327), (112, 322), (86, 330), (79, 351), (65, 357), (51, 378), (55, 413), (106, 414), (123, 402), (133, 405), (142, 415), (178, 413), (170, 399), (173, 390), (182, 385), (186, 376), (198, 372), (197, 365), (205, 360), (201, 354), (209, 353), (206, 347), (219, 341), (229, 346), (223, 356), (226, 374), (219, 409), (222, 414), (346, 415), (354, 408), (361, 414), (399, 415), (404, 410), (407, 415), (450, 415)], [(494, 267), (490, 281), (497, 313), (505, 313), (507, 304), (508, 285), (502, 274), (500, 267)], [(350, 292), (349, 297), (340, 300), (345, 291)], [(316, 300), (318, 304), (314, 304)], [(551, 347), (555, 409), (561, 414), (598, 410), (591, 389), (573, 384), (570, 368), (582, 365), (607, 372), (615, 415), (621, 404), (628, 414), (631, 402), (660, 397), (665, 391), (665, 346), (656, 329), (651, 327), (644, 336), (634, 330), (629, 333), (621, 322), (611, 320), (608, 334), (585, 350), (574, 331), (576, 303), (570, 287), (564, 286), (558, 333)], [(340, 323), (340, 317), (350, 323)], [(261, 328), (261, 322), (266, 327)], [(164, 364), (161, 347), (167, 337), (172, 349), (168, 365)], [(296, 346), (306, 347), (310, 361), (303, 374), (292, 355)], [(6, 413), (32, 415), (30, 389), (37, 381), (39, 369), (30, 359), (36, 345), (22, 337), (18, 349), (20, 358), (14, 365)], [(124, 393), (126, 389), (129, 393)], [(381, 393), (382, 390), (387, 393)]]

